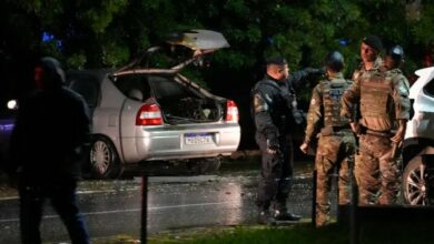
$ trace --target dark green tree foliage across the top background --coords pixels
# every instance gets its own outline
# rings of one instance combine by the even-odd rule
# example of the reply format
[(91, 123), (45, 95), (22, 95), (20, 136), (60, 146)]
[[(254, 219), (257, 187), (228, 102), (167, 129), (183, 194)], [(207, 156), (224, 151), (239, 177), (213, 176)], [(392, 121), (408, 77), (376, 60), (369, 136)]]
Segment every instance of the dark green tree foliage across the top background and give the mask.
[[(203, 73), (234, 83), (234, 73), (243, 72), (251, 87), (265, 57), (275, 54), (297, 70), (320, 67), (328, 51), (338, 50), (349, 77), (361, 39), (375, 33), (386, 45), (408, 50), (406, 70), (413, 72), (423, 55), (413, 47), (427, 50), (434, 42), (434, 4), (422, 2), (421, 18), (406, 19), (402, 0), (6, 0), (0, 50), (12, 59), (22, 51), (53, 55), (72, 69), (120, 67), (170, 31), (211, 29), (231, 47), (214, 55), (219, 73)], [(42, 41), (43, 34), (51, 39)]]

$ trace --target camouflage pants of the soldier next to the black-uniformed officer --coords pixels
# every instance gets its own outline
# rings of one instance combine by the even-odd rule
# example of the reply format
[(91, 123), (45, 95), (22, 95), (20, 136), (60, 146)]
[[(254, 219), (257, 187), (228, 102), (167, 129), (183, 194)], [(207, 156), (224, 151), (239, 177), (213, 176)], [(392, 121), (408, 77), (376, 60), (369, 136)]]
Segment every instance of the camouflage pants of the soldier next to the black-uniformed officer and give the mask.
[(316, 226), (327, 223), (331, 211), (328, 200), (332, 189), (331, 174), (338, 170), (338, 203), (349, 203), (348, 164), (355, 153), (355, 138), (352, 132), (322, 135), (315, 159), (316, 169)]

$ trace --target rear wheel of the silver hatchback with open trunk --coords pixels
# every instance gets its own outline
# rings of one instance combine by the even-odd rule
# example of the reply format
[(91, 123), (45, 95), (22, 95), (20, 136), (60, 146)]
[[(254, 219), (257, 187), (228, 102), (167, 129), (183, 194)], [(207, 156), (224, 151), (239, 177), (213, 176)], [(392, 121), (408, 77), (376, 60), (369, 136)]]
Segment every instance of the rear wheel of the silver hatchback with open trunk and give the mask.
[(116, 179), (120, 175), (119, 156), (109, 139), (97, 136), (92, 141), (90, 169), (97, 179)]

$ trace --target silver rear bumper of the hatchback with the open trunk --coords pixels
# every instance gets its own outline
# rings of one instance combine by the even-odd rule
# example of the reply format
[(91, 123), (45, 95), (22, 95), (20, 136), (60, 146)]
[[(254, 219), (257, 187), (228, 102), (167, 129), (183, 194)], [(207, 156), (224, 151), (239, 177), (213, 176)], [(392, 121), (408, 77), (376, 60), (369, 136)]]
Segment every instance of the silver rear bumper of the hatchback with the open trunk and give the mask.
[[(238, 149), (240, 128), (238, 124), (204, 125), (195, 130), (167, 130), (167, 128), (139, 128), (137, 138), (122, 138), (125, 163), (147, 160), (181, 160), (230, 155)], [(205, 144), (187, 144), (186, 136), (197, 134), (211, 138)]]

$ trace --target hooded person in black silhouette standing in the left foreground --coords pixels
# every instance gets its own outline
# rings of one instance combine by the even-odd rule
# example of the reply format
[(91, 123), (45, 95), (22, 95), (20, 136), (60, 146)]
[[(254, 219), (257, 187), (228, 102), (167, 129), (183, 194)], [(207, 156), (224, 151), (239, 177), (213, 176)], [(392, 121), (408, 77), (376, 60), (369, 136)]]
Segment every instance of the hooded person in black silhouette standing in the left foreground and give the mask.
[(80, 164), (89, 144), (90, 120), (83, 99), (65, 87), (52, 58), (34, 69), (37, 89), (20, 104), (10, 141), (10, 174), (18, 176), (22, 243), (41, 243), (43, 202), (50, 199), (72, 243), (89, 243), (76, 203)]

